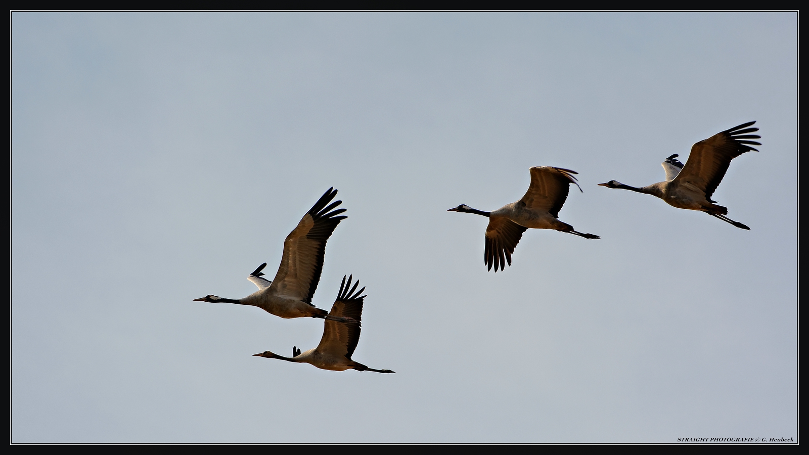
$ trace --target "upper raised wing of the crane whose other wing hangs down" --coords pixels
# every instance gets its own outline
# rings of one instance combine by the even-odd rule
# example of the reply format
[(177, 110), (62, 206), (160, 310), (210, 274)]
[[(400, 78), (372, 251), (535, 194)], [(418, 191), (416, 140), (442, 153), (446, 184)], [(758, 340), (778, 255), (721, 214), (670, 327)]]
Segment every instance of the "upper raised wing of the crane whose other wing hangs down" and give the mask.
[[(529, 209), (547, 211), (553, 218), (559, 218), (559, 210), (565, 204), (570, 184), (578, 186), (576, 177), (571, 174), (578, 172), (553, 166), (538, 166), (530, 171), (531, 185), (519, 202)], [(581, 190), (582, 187), (579, 186), (578, 189)]]

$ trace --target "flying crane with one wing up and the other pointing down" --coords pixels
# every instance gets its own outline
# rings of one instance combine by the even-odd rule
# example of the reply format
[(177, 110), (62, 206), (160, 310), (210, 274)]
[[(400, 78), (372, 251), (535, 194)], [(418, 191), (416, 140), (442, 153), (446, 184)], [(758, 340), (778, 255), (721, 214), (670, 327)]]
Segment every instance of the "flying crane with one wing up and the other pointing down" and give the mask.
[[(506, 262), (511, 265), (511, 253), (522, 238), (527, 228), (556, 229), (586, 239), (599, 239), (593, 234), (584, 234), (573, 230), (573, 226), (559, 221), (559, 210), (565, 203), (570, 184), (578, 186), (578, 172), (570, 169), (538, 166), (530, 168), (531, 185), (527, 193), (517, 202), (512, 202), (494, 211), (482, 211), (461, 204), (447, 211), (460, 211), (489, 217), (486, 227), (486, 243), (483, 262), (488, 270), (505, 270)], [(578, 187), (581, 191), (582, 187)]]

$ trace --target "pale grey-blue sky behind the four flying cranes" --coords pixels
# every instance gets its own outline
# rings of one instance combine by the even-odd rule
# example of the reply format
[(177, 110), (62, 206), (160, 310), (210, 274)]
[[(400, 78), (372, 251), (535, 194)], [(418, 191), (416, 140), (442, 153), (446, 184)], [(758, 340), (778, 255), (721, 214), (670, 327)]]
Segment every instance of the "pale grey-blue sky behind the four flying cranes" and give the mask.
[[(797, 437), (797, 14), (11, 14), (11, 442), (676, 443)], [(747, 121), (714, 193), (646, 194)], [(506, 270), (484, 217), (578, 172)], [(328, 188), (323, 321), (256, 290)]]

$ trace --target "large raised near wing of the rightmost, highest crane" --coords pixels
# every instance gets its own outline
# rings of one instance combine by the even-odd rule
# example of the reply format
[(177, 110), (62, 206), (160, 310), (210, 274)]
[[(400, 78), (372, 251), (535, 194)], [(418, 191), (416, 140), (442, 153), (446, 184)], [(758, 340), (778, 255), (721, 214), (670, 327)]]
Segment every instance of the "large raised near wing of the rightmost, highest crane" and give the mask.
[(758, 151), (748, 144), (760, 146), (761, 143), (748, 139), (758, 139), (761, 136), (746, 134), (758, 131), (758, 128), (747, 128), (754, 123), (756, 122), (748, 121), (694, 144), (685, 167), (675, 180), (696, 186), (704, 191), (705, 198), (710, 200), (722, 177), (725, 176), (728, 166), (731, 165), (731, 159), (746, 151)]

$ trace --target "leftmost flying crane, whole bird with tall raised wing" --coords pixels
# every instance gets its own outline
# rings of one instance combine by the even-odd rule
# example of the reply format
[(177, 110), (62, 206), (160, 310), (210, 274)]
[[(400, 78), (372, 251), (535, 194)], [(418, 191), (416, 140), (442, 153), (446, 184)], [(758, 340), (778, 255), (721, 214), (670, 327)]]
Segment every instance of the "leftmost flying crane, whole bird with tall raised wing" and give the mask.
[[(316, 308), (311, 303), (315, 295), (320, 272), (323, 270), (323, 257), (326, 251), (326, 240), (332, 235), (337, 224), (348, 218), (340, 215), (345, 209), (332, 210), (342, 201), (332, 202), (337, 189), (329, 188), (323, 196), (307, 211), (298, 226), (286, 236), (281, 266), (275, 279), (269, 281), (261, 278), (267, 263), (261, 264), (248, 275), (248, 280), (258, 287), (258, 291), (243, 299), (226, 299), (208, 295), (195, 302), (214, 304), (252, 305), (278, 317), (331, 318), (326, 310)], [(329, 204), (329, 202), (332, 202)], [(328, 205), (328, 206), (327, 206)], [(332, 211), (330, 211), (332, 210)], [(339, 216), (338, 216), (339, 215)], [(337, 321), (351, 322), (345, 317), (335, 317)]]

